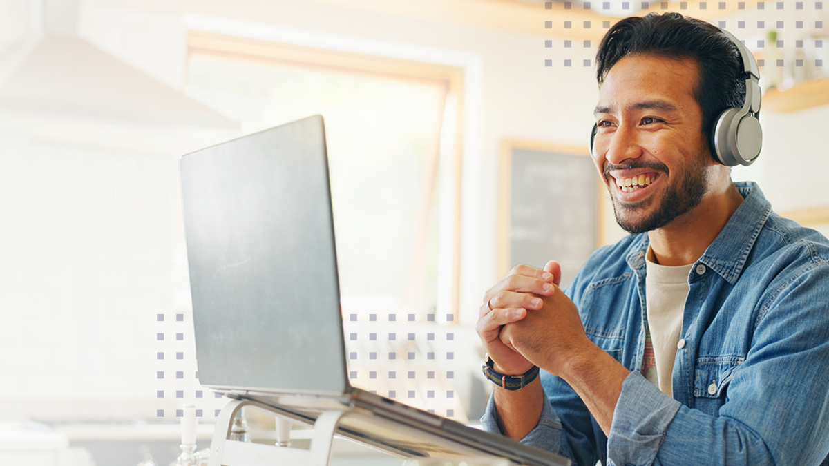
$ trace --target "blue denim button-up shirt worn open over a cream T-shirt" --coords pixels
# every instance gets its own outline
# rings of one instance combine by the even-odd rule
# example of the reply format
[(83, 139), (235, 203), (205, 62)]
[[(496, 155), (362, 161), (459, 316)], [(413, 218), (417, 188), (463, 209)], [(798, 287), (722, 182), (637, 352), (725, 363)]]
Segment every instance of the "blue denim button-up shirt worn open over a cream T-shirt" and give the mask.
[[(688, 275), (673, 396), (640, 373), (648, 237), (630, 235), (565, 289), (590, 340), (631, 371), (609, 437), (542, 371), (550, 402), (522, 443), (591, 466), (829, 464), (829, 241), (736, 184), (744, 201)], [(496, 415), (490, 397), (485, 430), (499, 432)]]

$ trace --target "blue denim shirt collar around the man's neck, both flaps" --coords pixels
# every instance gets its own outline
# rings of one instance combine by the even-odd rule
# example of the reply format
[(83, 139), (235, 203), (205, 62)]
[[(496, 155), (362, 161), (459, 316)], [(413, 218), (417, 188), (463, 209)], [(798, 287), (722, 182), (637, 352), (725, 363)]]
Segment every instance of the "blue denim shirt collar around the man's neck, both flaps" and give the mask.
[[(745, 260), (749, 257), (749, 252), (772, 211), (771, 204), (757, 183), (735, 182), (734, 185), (744, 197), (744, 201), (731, 215), (714, 242), (705, 250), (705, 254), (696, 261), (697, 264), (705, 264), (720, 274), (730, 284), (737, 283)], [(637, 274), (642, 274), (646, 268), (645, 255), (649, 240), (647, 233), (638, 236), (626, 260), (631, 269)]]

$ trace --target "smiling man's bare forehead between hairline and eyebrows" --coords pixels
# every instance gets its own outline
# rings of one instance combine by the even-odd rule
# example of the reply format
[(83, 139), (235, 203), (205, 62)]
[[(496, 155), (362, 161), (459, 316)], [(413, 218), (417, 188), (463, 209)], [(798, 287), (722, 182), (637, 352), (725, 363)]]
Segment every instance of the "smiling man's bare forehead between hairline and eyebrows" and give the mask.
[(664, 100), (678, 107), (696, 104), (700, 66), (695, 59), (625, 56), (617, 61), (599, 89), (602, 109), (622, 109), (631, 102)]

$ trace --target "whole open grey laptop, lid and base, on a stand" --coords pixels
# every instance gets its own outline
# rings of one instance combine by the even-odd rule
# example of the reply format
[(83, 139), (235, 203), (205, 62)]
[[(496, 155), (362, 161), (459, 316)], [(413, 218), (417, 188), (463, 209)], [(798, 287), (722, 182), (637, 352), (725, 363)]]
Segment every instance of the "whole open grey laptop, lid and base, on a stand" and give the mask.
[(351, 386), (322, 116), (180, 161), (201, 385), (404, 459), (565, 465), (542, 449)]

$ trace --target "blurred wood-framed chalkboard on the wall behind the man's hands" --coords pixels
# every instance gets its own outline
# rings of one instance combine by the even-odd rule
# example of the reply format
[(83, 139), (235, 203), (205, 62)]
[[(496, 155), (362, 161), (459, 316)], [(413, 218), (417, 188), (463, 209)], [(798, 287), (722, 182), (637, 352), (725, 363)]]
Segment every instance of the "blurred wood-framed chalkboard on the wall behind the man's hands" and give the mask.
[(527, 145), (502, 149), (501, 271), (557, 260), (564, 288), (599, 244), (599, 177), (586, 149)]

